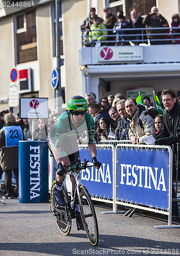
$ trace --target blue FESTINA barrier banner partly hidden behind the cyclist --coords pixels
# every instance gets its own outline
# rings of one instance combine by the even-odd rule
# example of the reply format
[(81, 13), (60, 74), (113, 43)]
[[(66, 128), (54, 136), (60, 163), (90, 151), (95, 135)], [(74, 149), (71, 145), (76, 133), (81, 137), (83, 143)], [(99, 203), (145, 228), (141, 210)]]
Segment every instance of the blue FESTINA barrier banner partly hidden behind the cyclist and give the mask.
[[(87, 148), (79, 148), (81, 161), (89, 160), (93, 165), (91, 155)], [(95, 167), (81, 170), (81, 182), (87, 187), (89, 194), (104, 199), (113, 198), (113, 150), (112, 148), (98, 148), (97, 159), (102, 163), (99, 172)]]

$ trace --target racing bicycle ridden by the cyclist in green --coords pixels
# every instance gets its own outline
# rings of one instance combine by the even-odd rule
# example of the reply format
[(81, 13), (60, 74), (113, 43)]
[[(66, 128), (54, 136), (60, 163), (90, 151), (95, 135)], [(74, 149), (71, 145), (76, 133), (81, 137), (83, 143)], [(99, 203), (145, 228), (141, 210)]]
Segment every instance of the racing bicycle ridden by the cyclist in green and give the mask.
[(53, 181), (51, 186), (51, 211), (61, 233), (68, 236), (71, 231), (72, 219), (76, 219), (77, 229), (80, 229), (76, 213), (76, 204), (79, 202), (80, 215), (87, 238), (92, 245), (96, 246), (99, 240), (96, 212), (87, 188), (81, 183), (79, 174), (80, 170), (94, 166), (87, 166), (87, 163), (88, 160), (86, 161), (86, 159), (84, 159), (84, 162), (79, 160), (75, 165), (64, 165), (65, 167), (69, 167), (69, 170), (67, 170), (66, 173), (75, 177), (75, 193), (71, 195), (71, 199), (64, 181), (62, 184), (62, 193), (64, 195), (66, 205), (59, 206), (54, 197), (56, 181)]

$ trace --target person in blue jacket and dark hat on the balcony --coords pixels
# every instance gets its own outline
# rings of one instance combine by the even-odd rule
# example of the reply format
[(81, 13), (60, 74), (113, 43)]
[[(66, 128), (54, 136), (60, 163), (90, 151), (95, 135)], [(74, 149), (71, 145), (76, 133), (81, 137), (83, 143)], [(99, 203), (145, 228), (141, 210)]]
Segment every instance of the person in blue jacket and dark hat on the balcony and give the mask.
[(120, 45), (120, 42), (121, 42), (121, 45), (129, 45), (128, 42), (124, 42), (124, 40), (127, 40), (127, 37), (126, 36), (123, 36), (125, 34), (127, 34), (126, 31), (122, 30), (122, 29), (127, 29), (129, 28), (129, 24), (126, 22), (125, 20), (125, 17), (122, 13), (120, 13), (117, 17), (118, 19), (118, 22), (115, 23), (115, 26), (114, 26), (114, 33), (116, 34), (116, 46), (119, 46)]

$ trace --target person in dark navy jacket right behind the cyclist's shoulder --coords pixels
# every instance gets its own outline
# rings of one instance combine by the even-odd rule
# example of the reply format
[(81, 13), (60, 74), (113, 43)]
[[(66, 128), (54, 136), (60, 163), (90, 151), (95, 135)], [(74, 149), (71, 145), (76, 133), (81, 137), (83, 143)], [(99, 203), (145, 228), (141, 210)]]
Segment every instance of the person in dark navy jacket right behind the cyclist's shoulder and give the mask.
[(116, 122), (109, 116), (109, 113), (106, 110), (101, 109), (100, 104), (96, 102), (92, 103), (91, 105), (89, 105), (88, 111), (94, 118), (95, 130), (97, 128), (97, 122), (101, 117), (106, 118), (109, 121), (109, 124), (114, 128)]

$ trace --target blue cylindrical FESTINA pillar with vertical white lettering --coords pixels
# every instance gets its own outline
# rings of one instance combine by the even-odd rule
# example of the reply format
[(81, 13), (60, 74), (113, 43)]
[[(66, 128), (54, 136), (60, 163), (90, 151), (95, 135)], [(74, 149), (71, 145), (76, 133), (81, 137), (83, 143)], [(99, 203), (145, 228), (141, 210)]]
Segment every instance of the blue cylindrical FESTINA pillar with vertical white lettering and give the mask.
[(19, 203), (49, 201), (46, 141), (19, 141)]

